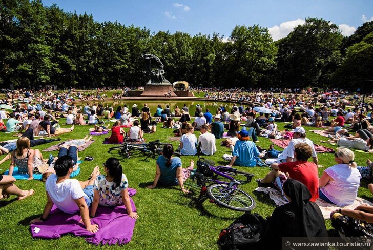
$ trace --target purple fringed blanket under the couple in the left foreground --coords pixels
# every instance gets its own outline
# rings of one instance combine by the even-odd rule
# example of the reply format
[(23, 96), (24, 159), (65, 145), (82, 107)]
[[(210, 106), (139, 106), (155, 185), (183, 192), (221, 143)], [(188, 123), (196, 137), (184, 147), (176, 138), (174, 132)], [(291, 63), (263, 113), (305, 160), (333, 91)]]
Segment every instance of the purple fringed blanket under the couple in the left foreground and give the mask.
[[(129, 188), (129, 195), (134, 196), (136, 189)], [(132, 198), (132, 210), (136, 211)], [(58, 239), (62, 235), (73, 234), (82, 236), (86, 241), (94, 245), (122, 245), (131, 241), (136, 219), (127, 214), (126, 207), (104, 207), (98, 206), (96, 217), (91, 219), (92, 224), (97, 224), (99, 230), (90, 233), (84, 224), (80, 222), (80, 213), (66, 214), (53, 206), (48, 220), (36, 222), (30, 225), (32, 237), (43, 239)]]

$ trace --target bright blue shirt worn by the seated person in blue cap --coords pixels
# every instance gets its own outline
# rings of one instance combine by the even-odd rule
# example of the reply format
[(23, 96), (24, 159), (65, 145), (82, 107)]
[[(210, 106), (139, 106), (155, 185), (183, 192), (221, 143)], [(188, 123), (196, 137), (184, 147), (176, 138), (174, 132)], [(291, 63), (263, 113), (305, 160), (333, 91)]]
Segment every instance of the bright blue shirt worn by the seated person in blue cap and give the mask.
[(237, 157), (234, 162), (235, 165), (254, 167), (256, 166), (255, 156), (259, 156), (260, 153), (254, 142), (237, 141), (232, 155)]

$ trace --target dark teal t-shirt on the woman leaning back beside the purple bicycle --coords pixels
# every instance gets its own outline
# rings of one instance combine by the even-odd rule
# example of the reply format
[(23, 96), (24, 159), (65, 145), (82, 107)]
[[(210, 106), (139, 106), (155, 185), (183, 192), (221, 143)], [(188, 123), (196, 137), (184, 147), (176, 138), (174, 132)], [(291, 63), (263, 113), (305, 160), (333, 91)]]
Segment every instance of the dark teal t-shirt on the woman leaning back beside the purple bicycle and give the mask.
[(177, 168), (181, 167), (181, 159), (174, 157), (171, 159), (171, 166), (166, 166), (167, 158), (164, 156), (158, 156), (157, 165), (160, 169), (159, 181), (166, 185), (177, 185), (179, 182), (176, 178)]

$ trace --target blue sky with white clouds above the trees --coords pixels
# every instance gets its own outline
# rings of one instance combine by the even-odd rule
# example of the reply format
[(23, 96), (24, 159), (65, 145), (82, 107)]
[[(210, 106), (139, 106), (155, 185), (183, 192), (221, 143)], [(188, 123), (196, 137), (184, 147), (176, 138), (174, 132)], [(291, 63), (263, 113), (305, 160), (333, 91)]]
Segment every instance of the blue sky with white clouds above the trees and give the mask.
[(146, 27), (153, 33), (177, 31), (192, 36), (214, 32), (225, 39), (236, 25), (258, 24), (273, 40), (285, 37), (305, 18), (323, 18), (349, 36), (364, 22), (373, 21), (372, 0), (42, 0), (65, 12), (92, 14), (97, 22)]

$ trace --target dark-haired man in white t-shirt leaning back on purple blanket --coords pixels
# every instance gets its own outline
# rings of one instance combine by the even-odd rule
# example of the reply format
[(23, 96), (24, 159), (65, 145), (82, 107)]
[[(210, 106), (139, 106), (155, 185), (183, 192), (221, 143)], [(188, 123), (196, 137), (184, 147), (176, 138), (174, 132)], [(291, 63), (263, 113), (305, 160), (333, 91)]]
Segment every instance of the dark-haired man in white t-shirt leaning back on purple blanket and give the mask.
[(31, 223), (47, 220), (53, 205), (56, 205), (68, 214), (80, 211), (81, 220), (86, 229), (91, 233), (98, 231), (98, 225), (91, 224), (88, 210), (93, 201), (93, 183), (100, 173), (98, 166), (93, 169), (92, 178), (82, 182), (70, 179), (75, 164), (71, 156), (58, 158), (54, 165), (56, 174), (48, 177), (45, 185), (47, 204), (43, 214), (39, 218), (33, 219)]

